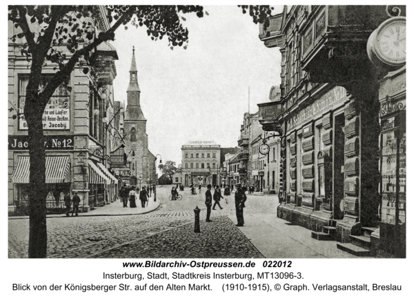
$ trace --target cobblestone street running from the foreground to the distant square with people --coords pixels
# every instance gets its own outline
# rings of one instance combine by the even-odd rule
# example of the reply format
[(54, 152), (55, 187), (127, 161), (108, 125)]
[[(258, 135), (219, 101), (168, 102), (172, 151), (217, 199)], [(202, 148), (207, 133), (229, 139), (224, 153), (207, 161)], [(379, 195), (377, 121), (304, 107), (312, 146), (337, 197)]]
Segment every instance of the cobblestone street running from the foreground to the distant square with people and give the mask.
[[(221, 199), (224, 209), (212, 211), (212, 223), (205, 222), (205, 191), (192, 196), (186, 188), (181, 201), (170, 201), (170, 188), (157, 188), (161, 206), (144, 215), (48, 217), (48, 257), (263, 257), (229, 219), (235, 217), (234, 194), (228, 203)], [(249, 195), (245, 214), (275, 213), (276, 200)], [(201, 209), (201, 233), (193, 232), (196, 206)], [(28, 219), (10, 218), (8, 232), (9, 257), (27, 257)]]

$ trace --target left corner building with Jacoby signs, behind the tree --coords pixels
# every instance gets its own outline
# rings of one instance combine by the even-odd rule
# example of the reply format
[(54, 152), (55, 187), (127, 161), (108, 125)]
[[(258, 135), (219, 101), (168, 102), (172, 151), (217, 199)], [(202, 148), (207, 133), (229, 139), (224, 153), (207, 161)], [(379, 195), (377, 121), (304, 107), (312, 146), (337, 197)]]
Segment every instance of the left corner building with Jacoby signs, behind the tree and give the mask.
[[(95, 6), (92, 11), (94, 30), (110, 27), (106, 8)], [(31, 30), (37, 30), (36, 23)], [(40, 30), (40, 28), (38, 29)], [(21, 33), (9, 21), (8, 34)], [(30, 74), (30, 59), (20, 54), (25, 41), (8, 43), (8, 206), (10, 214), (25, 214), (28, 209), (29, 152), (28, 127), (23, 115), (26, 86)], [(68, 53), (69, 54), (69, 53)], [(97, 46), (96, 63), (84, 74), (79, 66), (70, 74), (68, 83), (62, 83), (50, 98), (44, 111), (43, 133), (46, 139), (46, 185), (48, 212), (65, 209), (63, 196), (77, 191), (81, 210), (110, 203), (117, 196), (118, 180), (110, 170), (110, 150), (115, 128), (112, 116), (114, 91), (112, 81), (117, 74), (114, 60), (116, 49), (108, 42)], [(40, 88), (59, 69), (57, 64), (43, 66)], [(20, 115), (16, 116), (19, 111)]]

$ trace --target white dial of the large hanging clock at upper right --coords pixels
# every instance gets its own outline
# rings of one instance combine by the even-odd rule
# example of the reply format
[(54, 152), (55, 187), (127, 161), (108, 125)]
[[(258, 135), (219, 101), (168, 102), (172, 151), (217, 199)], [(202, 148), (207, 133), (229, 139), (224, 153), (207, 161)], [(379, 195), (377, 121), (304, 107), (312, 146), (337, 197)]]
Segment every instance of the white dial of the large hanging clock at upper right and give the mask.
[(406, 21), (396, 18), (379, 28), (377, 50), (381, 59), (390, 63), (404, 63), (406, 60)]

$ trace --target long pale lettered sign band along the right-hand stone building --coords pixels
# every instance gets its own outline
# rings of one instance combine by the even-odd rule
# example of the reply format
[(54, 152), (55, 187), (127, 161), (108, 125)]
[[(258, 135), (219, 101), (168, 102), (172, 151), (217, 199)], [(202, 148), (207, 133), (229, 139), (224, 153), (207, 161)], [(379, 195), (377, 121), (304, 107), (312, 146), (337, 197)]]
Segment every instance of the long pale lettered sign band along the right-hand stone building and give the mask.
[(297, 112), (290, 118), (288, 123), (288, 130), (295, 128), (300, 123), (311, 119), (313, 116), (321, 113), (323, 110), (331, 108), (335, 103), (346, 99), (346, 89), (344, 87), (335, 87), (326, 92), (322, 97), (314, 101), (310, 106)]

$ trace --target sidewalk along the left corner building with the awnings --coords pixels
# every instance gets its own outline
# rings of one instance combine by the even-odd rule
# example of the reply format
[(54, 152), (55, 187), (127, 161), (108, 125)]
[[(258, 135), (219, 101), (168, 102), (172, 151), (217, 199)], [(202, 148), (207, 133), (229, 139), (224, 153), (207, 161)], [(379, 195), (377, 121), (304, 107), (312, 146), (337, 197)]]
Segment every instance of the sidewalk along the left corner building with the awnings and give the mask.
[[(152, 194), (152, 197), (148, 198), (148, 206), (145, 208), (141, 208), (141, 201), (137, 199), (137, 208), (130, 208), (129, 207), (129, 201), (128, 201), (128, 208), (124, 208), (124, 203), (119, 201), (113, 201), (112, 203), (97, 207), (94, 210), (89, 210), (89, 212), (79, 212), (78, 217), (94, 217), (94, 216), (117, 216), (117, 215), (140, 215), (145, 214), (151, 211), (156, 210), (159, 205), (161, 204), (161, 200), (158, 199), (157, 201), (154, 201), (154, 194)], [(59, 214), (59, 215), (46, 215), (47, 218), (51, 217), (66, 217), (65, 214)], [(8, 217), (8, 219), (28, 219), (28, 216), (17, 216), (17, 217)]]

